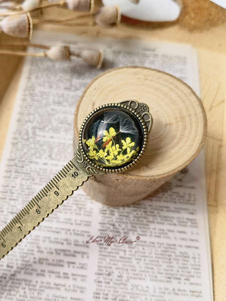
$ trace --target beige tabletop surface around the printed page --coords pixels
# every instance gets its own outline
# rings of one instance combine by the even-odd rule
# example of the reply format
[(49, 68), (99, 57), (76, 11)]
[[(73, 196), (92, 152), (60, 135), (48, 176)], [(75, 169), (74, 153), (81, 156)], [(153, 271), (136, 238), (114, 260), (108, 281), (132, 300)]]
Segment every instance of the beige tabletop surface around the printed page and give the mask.
[[(192, 2), (194, 3), (194, 1), (191, 0), (187, 1), (188, 4)], [(186, 11), (184, 16), (187, 19), (184, 17), (184, 19), (182, 18), (178, 20), (178, 22), (165, 24), (162, 27), (146, 26), (148, 28), (138, 28), (137, 26), (132, 27), (120, 24), (117, 28), (102, 29), (98, 26), (91, 27), (89, 25), (60, 26), (56, 24), (45, 24), (42, 26), (39, 25), (36, 28), (88, 36), (111, 36), (119, 39), (155, 39), (168, 42), (181, 42), (190, 44), (197, 49), (201, 100), (206, 110), (208, 125), (204, 148), (214, 295), (215, 301), (226, 301), (226, 23), (224, 21), (224, 18), (226, 18), (226, 10), (218, 9), (216, 5), (208, 0), (202, 0), (201, 2), (203, 2), (203, 5), (209, 5), (209, 3), (211, 3), (211, 5), (209, 5), (209, 11), (207, 10), (206, 12), (205, 8), (205, 16), (203, 16), (203, 20), (204, 17), (207, 21), (209, 20), (210, 25), (207, 26), (208, 28), (205, 28), (205, 26), (200, 27), (198, 23), (195, 24), (192, 19), (192, 14), (190, 14), (190, 22), (193, 22), (191, 23), (193, 27), (185, 26), (186, 22), (189, 24), (189, 14), (186, 14)], [(217, 14), (212, 15), (212, 8), (215, 9), (215, 11), (219, 11), (222, 22), (213, 22), (213, 18), (216, 19)], [(184, 9), (186, 9), (186, 7)], [(48, 18), (50, 15), (61, 18), (65, 16), (65, 13), (65, 11), (62, 13), (60, 9), (55, 8), (51, 11), (48, 10), (46, 15), (48, 15)], [(44, 15), (44, 18), (46, 15)], [(4, 44), (6, 40), (8, 40), (8, 38), (1, 34), (0, 44)], [(12, 39), (10, 38), (10, 40)], [(21, 60), (16, 57), (0, 55), (0, 65), (1, 156), (19, 83)]]

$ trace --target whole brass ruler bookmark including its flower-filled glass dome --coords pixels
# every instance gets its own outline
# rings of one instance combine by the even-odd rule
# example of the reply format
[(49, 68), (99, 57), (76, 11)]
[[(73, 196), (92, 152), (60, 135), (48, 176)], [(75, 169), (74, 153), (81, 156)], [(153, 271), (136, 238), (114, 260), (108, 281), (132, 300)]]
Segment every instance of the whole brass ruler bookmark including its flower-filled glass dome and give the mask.
[(85, 118), (77, 154), (0, 231), (0, 259), (92, 175), (124, 172), (146, 150), (152, 116), (144, 103), (102, 105)]

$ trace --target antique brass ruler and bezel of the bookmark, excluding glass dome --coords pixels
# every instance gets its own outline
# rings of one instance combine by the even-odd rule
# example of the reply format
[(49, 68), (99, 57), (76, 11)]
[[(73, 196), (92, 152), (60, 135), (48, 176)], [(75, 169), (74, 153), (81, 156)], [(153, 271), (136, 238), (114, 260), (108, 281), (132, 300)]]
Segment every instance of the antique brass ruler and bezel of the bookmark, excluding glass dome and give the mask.
[[(85, 154), (82, 145), (83, 129), (90, 118), (96, 112), (104, 108), (122, 109), (129, 114), (133, 114), (133, 118), (137, 118), (140, 123), (140, 129), (143, 129), (142, 149), (138, 152), (137, 157), (131, 157), (131, 163), (122, 165), (117, 168), (103, 168), (93, 163)], [(79, 135), (79, 145), (77, 154), (43, 187), (19, 213), (0, 231), (0, 259), (3, 258), (13, 247), (15, 247), (27, 234), (39, 225), (50, 213), (53, 212), (60, 204), (67, 200), (79, 186), (92, 175), (104, 174), (105, 172), (124, 172), (135, 165), (148, 144), (148, 133), (152, 127), (152, 116), (146, 104), (138, 103), (135, 100), (127, 100), (121, 103), (105, 104), (93, 110), (84, 120)], [(107, 138), (106, 138), (107, 139)], [(113, 137), (110, 137), (110, 141)], [(124, 141), (124, 140), (123, 140)], [(108, 141), (107, 141), (108, 142)], [(131, 142), (131, 141), (129, 141)], [(124, 141), (124, 149), (130, 150), (130, 145)], [(105, 142), (106, 144), (106, 142)], [(132, 143), (131, 143), (132, 145)], [(121, 150), (121, 152), (123, 151)], [(129, 151), (127, 151), (128, 153)], [(116, 154), (116, 153), (115, 153)], [(135, 154), (135, 151), (133, 152)], [(105, 155), (107, 156), (107, 155)], [(116, 155), (115, 155), (116, 156)]]

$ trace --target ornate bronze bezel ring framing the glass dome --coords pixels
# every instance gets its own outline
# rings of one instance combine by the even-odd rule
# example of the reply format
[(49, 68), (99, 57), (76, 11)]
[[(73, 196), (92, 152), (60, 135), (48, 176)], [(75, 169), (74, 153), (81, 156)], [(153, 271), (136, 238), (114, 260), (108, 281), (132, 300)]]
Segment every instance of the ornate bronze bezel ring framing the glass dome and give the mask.
[[(105, 108), (111, 108), (111, 107), (118, 107), (118, 108), (123, 108), (124, 110), (127, 110), (129, 113), (132, 113), (134, 116), (137, 117), (138, 121), (141, 124), (141, 128), (143, 129), (143, 134), (144, 134), (144, 141), (143, 141), (143, 146), (142, 149), (140, 151), (140, 153), (137, 155), (137, 157), (127, 166), (121, 167), (121, 168), (115, 168), (115, 169), (108, 169), (102, 166), (98, 166), (96, 163), (93, 163), (92, 160), (90, 160), (86, 154), (85, 151), (83, 149), (83, 144), (82, 144), (82, 132), (83, 129), (86, 125), (86, 123), (89, 121), (90, 118), (92, 118), (92, 116), (99, 112), (100, 110), (103, 110)], [(88, 163), (88, 165), (90, 166), (90, 168), (92, 169), (96, 169), (96, 171), (101, 171), (101, 172), (111, 172), (111, 173), (115, 173), (115, 172), (124, 172), (128, 169), (130, 169), (131, 167), (133, 167), (134, 165), (136, 165), (136, 163), (139, 162), (139, 160), (142, 158), (146, 147), (148, 145), (148, 138), (149, 138), (149, 132), (152, 128), (152, 116), (149, 113), (149, 107), (144, 104), (144, 103), (139, 103), (136, 100), (125, 100), (119, 103), (111, 103), (111, 104), (103, 104), (100, 107), (97, 107), (96, 109), (94, 109), (91, 113), (89, 113), (88, 116), (86, 116), (85, 120), (83, 121), (80, 131), (79, 131), (79, 144), (78, 144), (78, 149), (79, 149), (79, 153), (81, 154), (82, 161), (78, 161), (83, 163), (84, 161)], [(77, 152), (78, 154), (78, 152)], [(85, 167), (85, 166), (83, 166)], [(87, 168), (87, 167), (86, 167)], [(93, 172), (94, 173), (94, 172)], [(98, 172), (95, 172), (96, 174), (98, 174)]]

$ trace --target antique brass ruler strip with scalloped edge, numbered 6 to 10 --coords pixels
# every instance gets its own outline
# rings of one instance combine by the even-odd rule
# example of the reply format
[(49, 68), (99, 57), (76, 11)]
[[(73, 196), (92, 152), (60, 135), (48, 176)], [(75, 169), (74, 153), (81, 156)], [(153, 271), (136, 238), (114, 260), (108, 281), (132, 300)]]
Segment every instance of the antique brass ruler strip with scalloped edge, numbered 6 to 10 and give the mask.
[(53, 212), (92, 174), (74, 156), (0, 231), (0, 259)]

